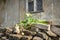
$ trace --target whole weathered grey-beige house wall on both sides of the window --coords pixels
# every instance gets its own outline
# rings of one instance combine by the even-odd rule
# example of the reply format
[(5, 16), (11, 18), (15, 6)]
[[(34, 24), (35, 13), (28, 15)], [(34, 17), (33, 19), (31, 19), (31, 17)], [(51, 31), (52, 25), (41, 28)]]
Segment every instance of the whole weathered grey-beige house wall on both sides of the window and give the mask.
[[(3, 6), (0, 2), (0, 8)], [(25, 0), (7, 0), (3, 10), (0, 9), (0, 24), (2, 26), (13, 26), (23, 20), (26, 11)], [(33, 13), (37, 19), (53, 20), (53, 23), (60, 24), (60, 0), (43, 0), (41, 13)]]

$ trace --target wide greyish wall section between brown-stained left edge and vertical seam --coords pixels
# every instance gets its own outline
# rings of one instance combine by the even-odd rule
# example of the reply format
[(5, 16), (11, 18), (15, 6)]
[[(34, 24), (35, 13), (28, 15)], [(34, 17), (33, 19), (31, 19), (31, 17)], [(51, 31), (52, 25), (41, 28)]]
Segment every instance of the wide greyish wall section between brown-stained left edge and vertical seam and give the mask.
[(15, 25), (20, 20), (19, 0), (7, 0), (4, 9), (3, 27), (10, 27)]

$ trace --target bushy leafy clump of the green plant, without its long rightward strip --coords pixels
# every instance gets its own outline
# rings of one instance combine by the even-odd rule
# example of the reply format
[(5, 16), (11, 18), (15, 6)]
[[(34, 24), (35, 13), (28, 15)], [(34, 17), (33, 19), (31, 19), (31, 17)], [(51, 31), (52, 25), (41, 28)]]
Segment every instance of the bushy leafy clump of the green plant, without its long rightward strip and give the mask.
[(32, 15), (26, 14), (26, 19), (23, 21), (20, 21), (19, 25), (24, 27), (25, 29), (28, 29), (28, 27), (34, 26), (36, 23), (36, 19), (32, 17)]

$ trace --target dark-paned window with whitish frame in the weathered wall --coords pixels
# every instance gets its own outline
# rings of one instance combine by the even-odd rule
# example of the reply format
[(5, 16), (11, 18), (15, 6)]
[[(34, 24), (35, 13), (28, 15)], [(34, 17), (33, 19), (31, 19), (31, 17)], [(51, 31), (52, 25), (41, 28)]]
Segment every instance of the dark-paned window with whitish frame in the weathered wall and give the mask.
[(27, 12), (42, 12), (43, 4), (42, 0), (26, 0)]

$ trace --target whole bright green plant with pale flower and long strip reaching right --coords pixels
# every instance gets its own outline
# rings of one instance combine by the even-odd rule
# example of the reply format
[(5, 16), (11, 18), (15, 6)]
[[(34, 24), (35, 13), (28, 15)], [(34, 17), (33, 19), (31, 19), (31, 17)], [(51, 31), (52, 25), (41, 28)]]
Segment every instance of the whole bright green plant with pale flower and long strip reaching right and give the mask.
[(20, 21), (19, 25), (28, 29), (29, 27), (34, 27), (35, 24), (48, 24), (48, 21), (38, 20), (32, 17), (30, 13), (26, 14), (26, 19)]

